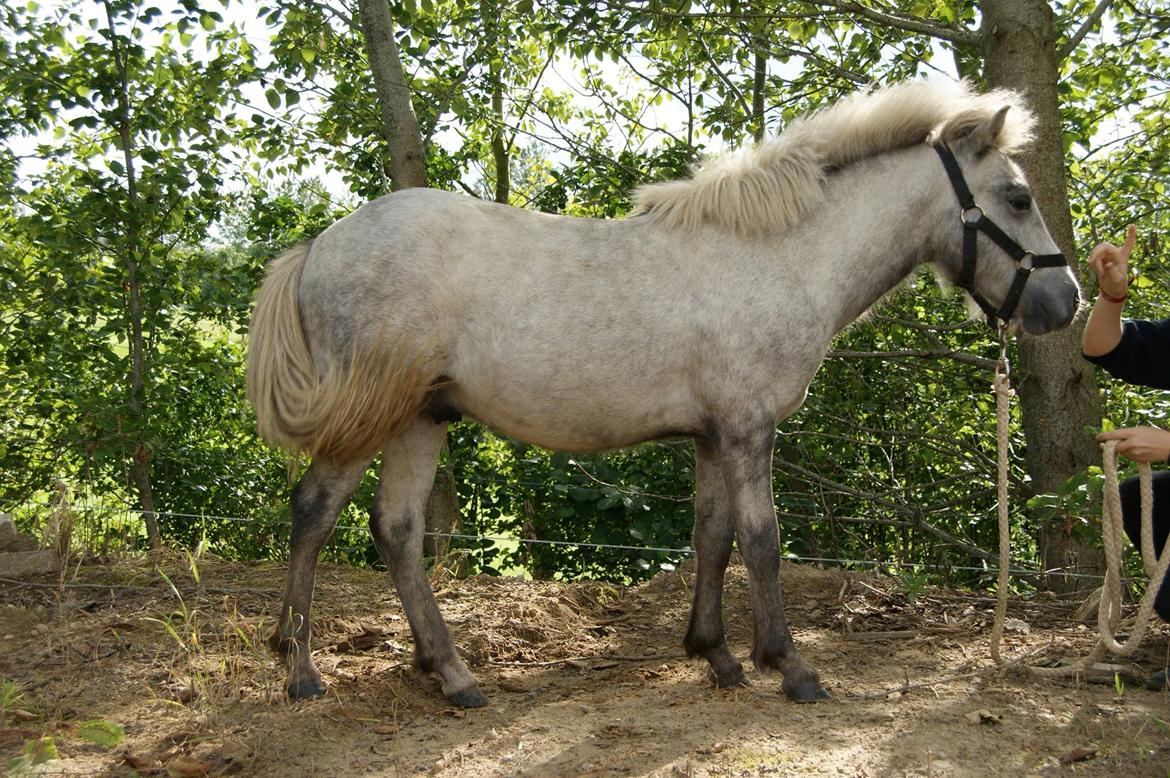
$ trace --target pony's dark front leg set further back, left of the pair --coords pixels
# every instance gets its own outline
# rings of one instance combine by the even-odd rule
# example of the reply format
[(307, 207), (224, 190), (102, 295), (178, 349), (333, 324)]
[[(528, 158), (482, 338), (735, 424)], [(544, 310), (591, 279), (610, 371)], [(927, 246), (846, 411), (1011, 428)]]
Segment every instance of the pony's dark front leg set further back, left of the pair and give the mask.
[(690, 626), (682, 645), (687, 656), (702, 656), (710, 665), (711, 679), (721, 689), (745, 686), (743, 665), (728, 649), (723, 633), (723, 573), (731, 558), (735, 538), (731, 503), (715, 446), (695, 440), (695, 599)]

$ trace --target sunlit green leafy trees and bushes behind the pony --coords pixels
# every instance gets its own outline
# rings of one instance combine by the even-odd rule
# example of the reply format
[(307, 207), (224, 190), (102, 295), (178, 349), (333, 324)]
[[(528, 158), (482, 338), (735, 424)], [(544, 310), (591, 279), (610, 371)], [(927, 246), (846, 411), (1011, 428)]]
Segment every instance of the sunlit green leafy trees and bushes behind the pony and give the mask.
[[(1055, 5), (1061, 44), (1094, 6)], [(686, 174), (704, 153), (865, 84), (935, 70), (979, 77), (978, 4), (878, 7), (433, 0), (393, 4), (393, 14), (433, 185), (488, 197), (502, 136), (512, 205), (620, 218), (640, 183)], [(340, 4), (106, 8), (2, 12), (0, 501), (35, 523), (62, 478), (80, 509), (102, 517), (95, 548), (137, 546), (128, 462), (146, 457), (171, 542), (278, 556), (288, 470), (256, 440), (243, 398), (247, 319), (266, 261), (388, 191), (360, 32)], [(1138, 316), (1170, 302), (1159, 237), (1170, 226), (1170, 49), (1157, 11), (1116, 4), (1104, 32), (1072, 47), (1061, 81), (1079, 241), (1138, 222)], [(267, 47), (256, 29), (271, 36)], [(125, 128), (123, 92), (133, 108)], [(140, 409), (128, 260), (142, 285)], [(954, 546), (996, 545), (986, 365), (997, 345), (957, 326), (964, 318), (923, 276), (840, 336), (777, 443), (786, 553), (906, 562), (916, 565), (911, 584), (920, 571), (978, 579), (978, 555)], [(1157, 395), (1119, 390), (1107, 400), (1117, 425), (1166, 418)], [(1018, 428), (1017, 495), (1028, 477)], [(687, 557), (684, 442), (571, 456), (462, 424), (450, 449), (467, 533), (565, 544), (463, 539), (470, 571), (631, 580)], [(1095, 478), (1027, 505), (1013, 500), (1016, 548), (1034, 552), (1034, 530), (1054, 512), (1089, 532)], [(372, 489), (367, 478), (333, 546), (369, 564)]]

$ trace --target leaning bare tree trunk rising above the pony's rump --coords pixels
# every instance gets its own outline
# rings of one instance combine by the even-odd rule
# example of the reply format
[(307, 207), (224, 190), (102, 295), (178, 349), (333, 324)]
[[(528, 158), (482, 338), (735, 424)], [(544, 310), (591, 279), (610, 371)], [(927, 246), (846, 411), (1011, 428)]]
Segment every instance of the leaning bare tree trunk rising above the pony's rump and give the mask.
[(362, 37), (373, 73), (383, 133), (390, 145), (390, 179), (395, 190), (427, 185), (427, 156), (411, 89), (398, 56), (394, 22), (386, 0), (358, 0)]

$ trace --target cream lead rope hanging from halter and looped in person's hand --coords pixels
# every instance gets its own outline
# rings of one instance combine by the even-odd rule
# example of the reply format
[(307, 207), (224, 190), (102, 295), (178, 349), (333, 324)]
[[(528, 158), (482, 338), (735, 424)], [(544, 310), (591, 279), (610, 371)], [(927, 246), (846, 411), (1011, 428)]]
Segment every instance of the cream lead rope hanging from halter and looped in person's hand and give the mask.
[[(1007, 587), (1011, 567), (1011, 535), (1007, 516), (1007, 436), (1011, 424), (1011, 388), (1010, 365), (1007, 363), (1007, 340), (1004, 328), (999, 328), (999, 362), (996, 364), (996, 379), (992, 384), (996, 392), (996, 433), (998, 448), (997, 501), (999, 508), (999, 581), (996, 598), (996, 618), (991, 627), (991, 659), (996, 665), (1004, 665), (999, 643), (1004, 635), (1004, 621), (1007, 613)], [(1097, 606), (1096, 646), (1088, 656), (1079, 663), (1065, 667), (1032, 667), (1033, 673), (1046, 676), (1066, 676), (1081, 673), (1099, 662), (1112, 652), (1119, 656), (1129, 656), (1145, 636), (1150, 615), (1154, 612), (1154, 598), (1162, 588), (1166, 570), (1170, 569), (1170, 543), (1162, 553), (1154, 551), (1154, 486), (1149, 462), (1138, 462), (1138, 482), (1142, 502), (1142, 566), (1150, 583), (1142, 595), (1135, 617), (1134, 629), (1129, 640), (1119, 643), (1114, 634), (1121, 621), (1121, 556), (1124, 529), (1121, 521), (1121, 491), (1117, 486), (1117, 441), (1109, 440), (1101, 445), (1102, 469), (1104, 471), (1104, 490), (1101, 508), (1101, 530), (1103, 537), (1106, 574), (1101, 590), (1101, 601)], [(1019, 661), (1019, 660), (1016, 660)]]

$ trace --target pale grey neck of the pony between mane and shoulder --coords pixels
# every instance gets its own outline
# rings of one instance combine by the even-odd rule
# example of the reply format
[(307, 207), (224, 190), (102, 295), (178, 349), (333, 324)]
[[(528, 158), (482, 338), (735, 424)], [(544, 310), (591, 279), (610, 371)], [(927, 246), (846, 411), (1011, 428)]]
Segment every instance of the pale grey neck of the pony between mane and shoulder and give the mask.
[[(920, 146), (832, 174), (825, 204), (798, 230), (808, 245), (785, 247), (797, 262), (810, 262), (813, 302), (823, 312), (834, 311), (834, 333), (932, 259), (938, 219), (957, 213), (936, 167), (934, 152)], [(958, 229), (957, 218), (955, 225)]]

